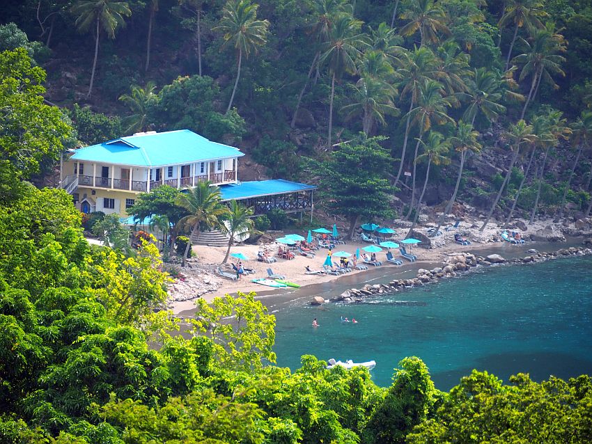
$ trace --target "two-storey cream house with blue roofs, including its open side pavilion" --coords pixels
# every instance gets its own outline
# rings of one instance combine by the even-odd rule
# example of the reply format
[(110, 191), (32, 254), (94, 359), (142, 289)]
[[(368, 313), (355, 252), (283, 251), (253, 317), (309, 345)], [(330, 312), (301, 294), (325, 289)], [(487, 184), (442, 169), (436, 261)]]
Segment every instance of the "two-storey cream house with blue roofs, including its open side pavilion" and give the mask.
[(316, 187), (288, 180), (240, 182), (238, 148), (212, 142), (189, 129), (145, 132), (72, 150), (60, 171), (61, 187), (81, 212), (127, 214), (139, 193), (162, 185), (189, 189), (209, 180), (223, 200), (238, 200), (255, 214), (270, 209), (312, 212)]

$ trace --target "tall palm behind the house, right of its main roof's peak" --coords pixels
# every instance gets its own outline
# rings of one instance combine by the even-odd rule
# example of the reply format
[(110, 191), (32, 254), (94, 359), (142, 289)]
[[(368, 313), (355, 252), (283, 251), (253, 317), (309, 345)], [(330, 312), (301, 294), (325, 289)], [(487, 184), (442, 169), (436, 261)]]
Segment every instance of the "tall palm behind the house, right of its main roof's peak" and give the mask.
[(222, 11), (223, 17), (219, 26), (214, 28), (214, 31), (224, 34), (222, 48), (230, 42), (237, 52), (236, 80), (226, 113), (231, 110), (234, 101), (238, 79), (240, 79), (242, 55), (249, 58), (251, 52), (257, 52), (258, 47), (267, 42), (267, 29), (270, 22), (257, 19), (257, 8), (258, 5), (252, 4), (249, 0), (228, 0)]

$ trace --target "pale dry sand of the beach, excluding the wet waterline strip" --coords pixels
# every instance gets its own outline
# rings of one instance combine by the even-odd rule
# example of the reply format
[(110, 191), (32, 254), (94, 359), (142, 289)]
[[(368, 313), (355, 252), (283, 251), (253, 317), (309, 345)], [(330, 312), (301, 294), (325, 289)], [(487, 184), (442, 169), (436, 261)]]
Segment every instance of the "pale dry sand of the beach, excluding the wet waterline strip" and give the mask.
[[(507, 242), (501, 241), (499, 238), (499, 233), (501, 232), (501, 224), (496, 222), (489, 223), (487, 228), (485, 228), (483, 232), (480, 232), (478, 230), (478, 226), (480, 226), (478, 219), (476, 221), (462, 221), (462, 223), (460, 223), (459, 227), (456, 229), (448, 231), (444, 229), (442, 230), (442, 235), (439, 235), (438, 237), (438, 244), (440, 244), (440, 246), (438, 246), (437, 248), (427, 249), (422, 248), (421, 246), (407, 248), (418, 258), (414, 265), (416, 267), (419, 267), (421, 266), (421, 264), (425, 263), (443, 262), (446, 259), (446, 256), (454, 255), (455, 253), (460, 253), (463, 251), (475, 252), (481, 249), (492, 249), (496, 248), (497, 246), (501, 247), (504, 244), (507, 244)], [(528, 230), (522, 232), (522, 237), (528, 239), (529, 235), (535, 232), (540, 232), (541, 230), (547, 230), (548, 232), (550, 226), (552, 227), (552, 232), (561, 235), (560, 225), (553, 224), (550, 221), (540, 221), (533, 225), (529, 225)], [(421, 232), (422, 230), (423, 232), (426, 232), (427, 227), (419, 227), (418, 230), (419, 232)], [(407, 232), (407, 230), (400, 229), (398, 230), (398, 232), (400, 232), (403, 235)], [(454, 241), (455, 233), (459, 233), (463, 237), (467, 237), (467, 239), (471, 241), (471, 244), (463, 246), (456, 243)], [(297, 232), (297, 234), (306, 236), (306, 233), (302, 232)], [(275, 237), (277, 238), (281, 236), (282, 234), (277, 234)], [(398, 240), (400, 240), (400, 238), (398, 238), (395, 235), (394, 241)], [(529, 244), (531, 244), (530, 248), (536, 248), (536, 242), (529, 242)], [(336, 246), (334, 251), (347, 251), (348, 253), (352, 253), (353, 255), (355, 254), (357, 248), (360, 248), (361, 250), (362, 248), (368, 245), (369, 244), (367, 242), (361, 242), (359, 240), (348, 241), (345, 245)], [(308, 285), (327, 283), (332, 280), (336, 280), (341, 276), (345, 276), (332, 276), (326, 274), (316, 275), (305, 273), (306, 266), (309, 266), (312, 270), (322, 270), (322, 264), (323, 262), (325, 262), (325, 258), (327, 257), (328, 250), (326, 248), (321, 248), (318, 251), (313, 251), (313, 253), (316, 253), (316, 257), (305, 257), (302, 255), (297, 255), (293, 260), (286, 260), (277, 257), (277, 262), (274, 262), (272, 264), (258, 262), (256, 260), (258, 251), (266, 249), (269, 253), (275, 254), (279, 250), (279, 248), (284, 247), (281, 246), (281, 244), (276, 244), (274, 242), (264, 245), (233, 246), (231, 248), (231, 253), (242, 253), (245, 256), (249, 257), (249, 260), (243, 261), (244, 267), (246, 267), (247, 269), (253, 269), (255, 273), (244, 275), (240, 280), (230, 280), (226, 278), (221, 278), (221, 276), (215, 276), (217, 288), (215, 290), (202, 294), (201, 298), (205, 299), (206, 301), (212, 301), (212, 299), (214, 299), (217, 296), (224, 296), (224, 294), (235, 294), (239, 291), (254, 291), (258, 294), (260, 294), (261, 292), (277, 291), (277, 289), (273, 289), (271, 287), (266, 287), (251, 282), (251, 279), (253, 278), (266, 278), (268, 268), (271, 268), (274, 271), (274, 273), (286, 276), (286, 280), (298, 283), (302, 287)], [(384, 261), (387, 249), (383, 248), (383, 250), (383, 252), (377, 253), (377, 260)], [(219, 266), (219, 264), (221, 264), (222, 260), (224, 260), (224, 255), (226, 254), (226, 247), (194, 246), (194, 253), (196, 255), (196, 262), (194, 262), (194, 268), (182, 269), (182, 273), (190, 275), (192, 273), (202, 273), (203, 269), (215, 269)], [(400, 258), (398, 250), (393, 250), (392, 253), (395, 257)], [(237, 262), (237, 259), (235, 259), (234, 257), (229, 257), (228, 271), (231, 271), (229, 267), (230, 262)], [(338, 262), (338, 258), (335, 257), (334, 262)], [(403, 260), (403, 262), (407, 261)], [(373, 266), (369, 267), (373, 268)], [(389, 264), (388, 262), (383, 262), (381, 268), (384, 267), (396, 268), (396, 265)], [(359, 273), (367, 273), (367, 271), (355, 270), (351, 273), (347, 273), (346, 276), (352, 276)], [(173, 312), (175, 312), (176, 314), (180, 312), (185, 312), (187, 310), (192, 310), (194, 306), (194, 300), (174, 301), (171, 304)]]

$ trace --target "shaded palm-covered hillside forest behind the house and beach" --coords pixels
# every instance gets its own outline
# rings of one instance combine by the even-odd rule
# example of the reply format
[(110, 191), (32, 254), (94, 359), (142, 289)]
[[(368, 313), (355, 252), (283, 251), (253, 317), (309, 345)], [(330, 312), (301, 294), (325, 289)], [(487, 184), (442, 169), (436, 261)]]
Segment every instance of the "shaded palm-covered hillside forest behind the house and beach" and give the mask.
[(336, 214), (411, 219), (424, 181), (439, 211), (592, 209), (590, 1), (30, 0), (0, 22), (73, 141), (188, 128), (265, 167), (243, 180), (314, 180), (363, 132), (391, 156), (396, 211)]

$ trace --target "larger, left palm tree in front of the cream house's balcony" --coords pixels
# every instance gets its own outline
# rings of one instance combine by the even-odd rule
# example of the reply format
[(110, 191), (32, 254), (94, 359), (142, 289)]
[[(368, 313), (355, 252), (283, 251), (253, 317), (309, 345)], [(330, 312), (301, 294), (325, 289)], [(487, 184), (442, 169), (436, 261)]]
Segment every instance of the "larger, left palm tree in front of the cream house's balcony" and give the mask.
[(218, 187), (212, 187), (212, 182), (199, 182), (195, 188), (188, 189), (177, 198), (177, 205), (187, 209), (188, 216), (179, 221), (179, 224), (189, 228), (189, 241), (183, 253), (182, 267), (185, 267), (185, 259), (189, 253), (189, 246), (194, 237), (199, 238), (200, 225), (215, 227), (219, 225), (221, 216), (228, 214), (228, 207), (221, 203), (221, 193)]

